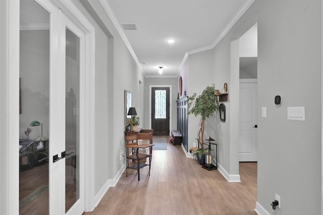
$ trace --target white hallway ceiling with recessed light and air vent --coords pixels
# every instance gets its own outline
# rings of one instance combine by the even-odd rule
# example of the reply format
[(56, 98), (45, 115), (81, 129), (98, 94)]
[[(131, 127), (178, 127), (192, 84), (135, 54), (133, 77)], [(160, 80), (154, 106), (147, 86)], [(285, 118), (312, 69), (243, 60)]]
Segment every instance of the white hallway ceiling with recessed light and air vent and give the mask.
[[(222, 38), (250, 0), (108, 0), (145, 76), (177, 76), (185, 53), (210, 46)], [(169, 44), (167, 39), (176, 41)]]

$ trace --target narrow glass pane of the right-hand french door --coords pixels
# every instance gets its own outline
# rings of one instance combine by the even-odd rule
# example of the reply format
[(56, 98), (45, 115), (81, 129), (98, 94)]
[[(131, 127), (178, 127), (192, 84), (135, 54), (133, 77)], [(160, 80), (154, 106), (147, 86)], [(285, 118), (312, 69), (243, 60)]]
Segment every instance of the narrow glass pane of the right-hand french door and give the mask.
[(80, 198), (80, 38), (66, 28), (65, 211)]

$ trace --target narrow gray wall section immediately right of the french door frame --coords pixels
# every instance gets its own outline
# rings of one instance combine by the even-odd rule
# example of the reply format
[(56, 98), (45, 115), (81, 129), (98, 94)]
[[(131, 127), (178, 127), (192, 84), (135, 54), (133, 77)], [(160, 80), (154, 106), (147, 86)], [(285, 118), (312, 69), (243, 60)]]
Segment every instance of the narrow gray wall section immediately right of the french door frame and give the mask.
[(109, 50), (108, 37), (100, 28), (88, 11), (79, 1), (73, 2), (82, 14), (90, 21), (95, 28), (95, 142), (90, 144), (95, 149), (95, 194), (109, 179), (110, 165), (101, 166), (100, 164), (109, 164), (107, 153), (110, 152), (109, 144), (109, 124), (108, 122), (108, 96), (107, 96), (107, 52)]

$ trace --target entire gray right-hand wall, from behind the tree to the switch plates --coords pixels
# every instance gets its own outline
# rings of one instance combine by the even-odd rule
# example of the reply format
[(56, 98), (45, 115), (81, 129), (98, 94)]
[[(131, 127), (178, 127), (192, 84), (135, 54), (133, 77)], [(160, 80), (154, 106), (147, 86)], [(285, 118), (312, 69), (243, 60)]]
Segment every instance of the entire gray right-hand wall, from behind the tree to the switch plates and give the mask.
[[(190, 92), (213, 77), (216, 86), (232, 79), (231, 42), (258, 22), (258, 181), (257, 201), (271, 214), (321, 214), (321, 2), (256, 1), (213, 49), (189, 56)], [(210, 59), (211, 58), (211, 59)], [(213, 75), (200, 75), (212, 69)], [(207, 66), (206, 66), (207, 65)], [(195, 89), (193, 83), (195, 82)], [(219, 158), (238, 174), (237, 142), (230, 117), (235, 83), (228, 82), (227, 122), (215, 120)], [(199, 89), (200, 88), (200, 89)], [(275, 105), (275, 95), (283, 103)], [(306, 121), (288, 121), (287, 107), (305, 106)], [(261, 107), (267, 117), (261, 117)], [(197, 128), (189, 118), (189, 144)], [(231, 138), (231, 140), (230, 140)], [(242, 179), (243, 180), (243, 179)], [(280, 195), (282, 208), (271, 202)]]

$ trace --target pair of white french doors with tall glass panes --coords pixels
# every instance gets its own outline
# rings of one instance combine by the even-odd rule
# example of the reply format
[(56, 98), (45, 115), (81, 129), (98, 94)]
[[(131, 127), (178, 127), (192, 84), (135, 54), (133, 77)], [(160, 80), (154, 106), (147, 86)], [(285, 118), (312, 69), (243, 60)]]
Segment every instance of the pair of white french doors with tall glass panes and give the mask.
[[(35, 191), (30, 194), (20, 191), (20, 196), (24, 195), (20, 198), (20, 212), (82, 214), (85, 208), (85, 33), (50, 1), (21, 0), (20, 5), (22, 111), (19, 122), (20, 127), (30, 131), (30, 137), (27, 139), (26, 135), (21, 141), (22, 148), (28, 147), (20, 151), (20, 175), (24, 176), (20, 177), (20, 190), (27, 186), (22, 180), (37, 178), (34, 183), (43, 183), (31, 188)], [(32, 124), (31, 120), (37, 123)], [(41, 134), (37, 133), (40, 126), (34, 127), (38, 124), (41, 124)], [(39, 154), (47, 155), (47, 159), (40, 162)], [(40, 172), (43, 174), (39, 175)], [(26, 179), (28, 175), (32, 177)], [(28, 201), (31, 198), (34, 200)], [(41, 203), (31, 206), (37, 203), (37, 198)], [(35, 211), (39, 208), (39, 212)]]

